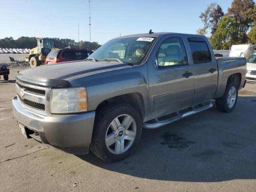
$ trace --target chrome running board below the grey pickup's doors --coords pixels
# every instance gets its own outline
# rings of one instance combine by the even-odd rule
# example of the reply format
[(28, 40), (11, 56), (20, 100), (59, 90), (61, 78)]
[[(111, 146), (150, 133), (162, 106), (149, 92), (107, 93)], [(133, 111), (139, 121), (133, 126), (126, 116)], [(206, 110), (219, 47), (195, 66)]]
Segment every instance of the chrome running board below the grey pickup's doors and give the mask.
[(166, 120), (158, 120), (158, 118), (156, 118), (156, 122), (155, 123), (144, 123), (142, 124), (142, 127), (143, 128), (146, 128), (146, 129), (155, 129), (155, 128), (158, 128), (158, 127), (161, 127), (161, 126), (164, 126), (164, 125), (167, 125), (169, 123), (172, 123), (174, 121), (177, 121), (177, 120), (180, 120), (182, 118), (185, 118), (187, 116), (190, 116), (190, 115), (193, 115), (193, 114), (196, 114), (196, 113), (199, 113), (201, 111), (204, 111), (206, 109), (209, 109), (212, 107), (212, 103), (211, 102), (208, 102), (207, 104), (199, 107), (199, 108), (192, 108), (191, 111), (188, 111), (188, 112), (185, 112), (183, 114), (179, 114), (177, 113), (177, 116), (174, 116), (172, 118), (169, 118), (169, 119), (166, 119)]

